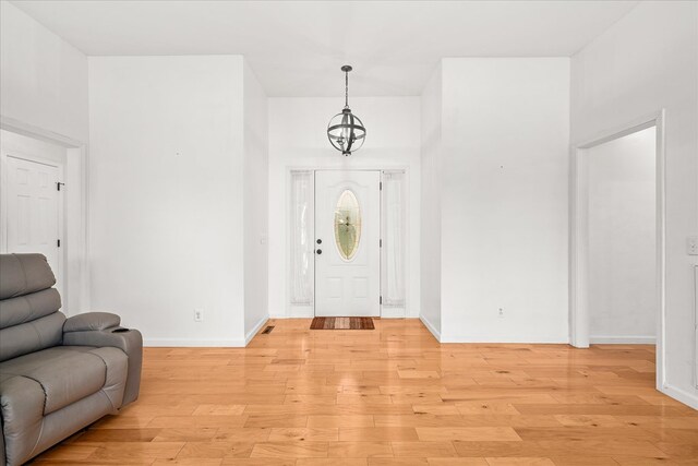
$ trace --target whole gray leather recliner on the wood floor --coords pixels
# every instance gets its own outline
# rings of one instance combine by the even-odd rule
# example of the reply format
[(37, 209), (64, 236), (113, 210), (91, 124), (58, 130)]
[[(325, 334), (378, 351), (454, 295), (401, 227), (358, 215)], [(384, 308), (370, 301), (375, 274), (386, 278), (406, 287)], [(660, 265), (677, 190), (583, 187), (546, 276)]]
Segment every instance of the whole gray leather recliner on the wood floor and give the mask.
[(21, 465), (139, 397), (143, 339), (118, 315), (59, 312), (41, 254), (0, 254), (0, 465)]

